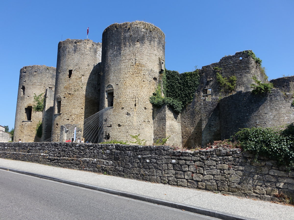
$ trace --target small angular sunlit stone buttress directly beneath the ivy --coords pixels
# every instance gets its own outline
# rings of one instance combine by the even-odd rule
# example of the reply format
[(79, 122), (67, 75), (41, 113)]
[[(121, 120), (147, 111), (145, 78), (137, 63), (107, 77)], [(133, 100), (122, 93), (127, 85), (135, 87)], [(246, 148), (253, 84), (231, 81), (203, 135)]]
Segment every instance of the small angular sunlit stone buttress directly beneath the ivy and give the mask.
[(182, 146), (181, 116), (163, 105), (161, 108), (153, 109), (153, 125), (155, 143), (158, 139), (168, 138), (166, 145)]

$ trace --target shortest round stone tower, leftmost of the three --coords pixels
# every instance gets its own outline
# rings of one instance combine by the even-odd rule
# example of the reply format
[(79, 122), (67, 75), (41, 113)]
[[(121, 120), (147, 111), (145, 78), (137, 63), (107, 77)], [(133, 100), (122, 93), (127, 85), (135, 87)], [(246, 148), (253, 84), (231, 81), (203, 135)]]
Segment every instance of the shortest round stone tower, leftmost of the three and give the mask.
[[(36, 100), (34, 100), (34, 95), (35, 97), (39, 96), (39, 100), (42, 100), (46, 89), (54, 90), (55, 74), (55, 67), (47, 67), (45, 65), (21, 68), (16, 104), (14, 141), (17, 142), (18, 139), (21, 139), (22, 142), (41, 141), (41, 133), (38, 132), (37, 134), (37, 130), (42, 130), (42, 127), (40, 127), (41, 123), (44, 120), (46, 121), (46, 119), (42, 118), (43, 109), (34, 108), (37, 104)], [(48, 100), (48, 103), (50, 103), (50, 100)]]

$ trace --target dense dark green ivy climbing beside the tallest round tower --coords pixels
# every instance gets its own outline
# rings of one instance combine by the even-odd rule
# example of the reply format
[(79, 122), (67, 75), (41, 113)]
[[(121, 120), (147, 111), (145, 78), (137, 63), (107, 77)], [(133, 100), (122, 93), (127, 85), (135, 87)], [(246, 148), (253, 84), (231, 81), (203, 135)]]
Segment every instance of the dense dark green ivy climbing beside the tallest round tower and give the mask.
[(198, 70), (182, 74), (177, 71), (165, 70), (162, 76), (165, 97), (161, 95), (161, 84), (159, 84), (149, 100), (156, 107), (166, 104), (174, 111), (181, 112), (183, 107), (193, 100), (198, 85)]

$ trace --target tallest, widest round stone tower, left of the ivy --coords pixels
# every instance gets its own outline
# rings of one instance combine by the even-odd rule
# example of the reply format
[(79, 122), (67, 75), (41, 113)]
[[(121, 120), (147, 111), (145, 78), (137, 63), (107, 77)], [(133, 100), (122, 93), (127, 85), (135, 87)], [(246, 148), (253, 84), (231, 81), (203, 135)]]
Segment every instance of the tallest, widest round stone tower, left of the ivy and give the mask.
[(113, 106), (104, 139), (153, 143), (149, 97), (161, 81), (164, 33), (143, 21), (115, 23), (102, 34), (100, 110)]

